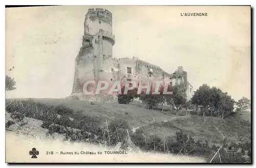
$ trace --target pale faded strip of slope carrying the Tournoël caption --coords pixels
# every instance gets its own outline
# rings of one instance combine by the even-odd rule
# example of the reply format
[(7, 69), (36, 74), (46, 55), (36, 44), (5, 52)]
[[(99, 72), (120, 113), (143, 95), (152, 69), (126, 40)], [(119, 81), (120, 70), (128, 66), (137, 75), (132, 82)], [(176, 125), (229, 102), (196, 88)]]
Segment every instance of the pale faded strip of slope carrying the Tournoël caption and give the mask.
[[(6, 122), (11, 120), (10, 114), (6, 116)], [(118, 148), (97, 146), (90, 143), (70, 143), (62, 141), (63, 135), (54, 133), (47, 136), (47, 129), (41, 128), (41, 121), (24, 118), (26, 125), (20, 123), (11, 125), (6, 130), (6, 162), (205, 162), (201, 157), (160, 154), (142, 152), (140, 150), (127, 151), (125, 155), (109, 155), (104, 151), (118, 151)], [(31, 159), (29, 151), (32, 148), (39, 151), (37, 159)], [(15, 149), (15, 150), (14, 150)], [(53, 155), (47, 152), (53, 151)], [(60, 152), (102, 152), (101, 155), (60, 155)]]

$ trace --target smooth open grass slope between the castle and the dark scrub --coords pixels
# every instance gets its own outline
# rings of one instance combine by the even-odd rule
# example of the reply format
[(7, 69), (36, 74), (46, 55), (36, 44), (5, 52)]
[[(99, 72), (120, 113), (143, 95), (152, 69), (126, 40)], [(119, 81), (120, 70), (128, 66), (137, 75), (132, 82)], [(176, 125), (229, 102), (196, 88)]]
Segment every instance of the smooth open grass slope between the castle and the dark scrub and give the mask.
[[(144, 109), (137, 105), (89, 102), (69, 99), (34, 99), (35, 102), (53, 106), (66, 106), (74, 114), (94, 118), (105, 125), (105, 120), (125, 120), (131, 129), (156, 134), (160, 137), (175, 136), (176, 131), (184, 131), (195, 138), (206, 138), (219, 143), (227, 139), (250, 139), (250, 122), (243, 117), (221, 119), (202, 116), (176, 116), (166, 111)], [(245, 116), (245, 115), (244, 115)], [(248, 119), (248, 118), (247, 118)]]

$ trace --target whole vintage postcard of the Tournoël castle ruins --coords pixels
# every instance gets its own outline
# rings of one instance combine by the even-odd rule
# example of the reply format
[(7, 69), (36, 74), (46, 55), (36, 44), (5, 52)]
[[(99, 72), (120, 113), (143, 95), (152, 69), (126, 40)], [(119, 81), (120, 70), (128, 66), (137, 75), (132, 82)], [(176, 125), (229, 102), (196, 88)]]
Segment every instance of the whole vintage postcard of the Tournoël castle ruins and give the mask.
[(250, 6), (6, 8), (6, 162), (251, 163)]

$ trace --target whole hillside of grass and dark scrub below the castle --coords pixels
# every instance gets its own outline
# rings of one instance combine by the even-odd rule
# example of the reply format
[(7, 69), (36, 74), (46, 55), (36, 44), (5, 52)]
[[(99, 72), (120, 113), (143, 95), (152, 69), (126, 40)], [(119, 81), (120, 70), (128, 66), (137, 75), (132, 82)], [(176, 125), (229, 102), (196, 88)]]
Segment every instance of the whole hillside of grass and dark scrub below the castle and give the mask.
[[(189, 113), (184, 116), (181, 111), (176, 116), (168, 111), (145, 109), (138, 104), (74, 99), (6, 100), (6, 112), (6, 119), (10, 115), (6, 130), (16, 122), (20, 123), (19, 130), (28, 124), (26, 118), (32, 118), (38, 123), (37, 128), (44, 128), (53, 137), (59, 133), (63, 135), (63, 141), (107, 146), (121, 143), (123, 149), (131, 146), (142, 151), (189, 153), (189, 156), (205, 157), (207, 161), (224, 145), (221, 150), (223, 162), (248, 162), (250, 158), (251, 125), (240, 115), (221, 119)], [(28, 127), (27, 132), (30, 129)], [(239, 150), (232, 157), (228, 148), (234, 146)]]

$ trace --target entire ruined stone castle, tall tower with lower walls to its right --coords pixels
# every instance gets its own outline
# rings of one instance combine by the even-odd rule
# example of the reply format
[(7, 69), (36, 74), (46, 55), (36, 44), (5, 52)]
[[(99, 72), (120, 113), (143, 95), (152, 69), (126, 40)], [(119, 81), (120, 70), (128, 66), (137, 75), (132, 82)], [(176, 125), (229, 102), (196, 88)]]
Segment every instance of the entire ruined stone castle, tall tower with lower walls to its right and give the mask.
[(182, 67), (169, 74), (160, 67), (139, 60), (136, 57), (115, 59), (112, 46), (115, 35), (112, 32), (112, 13), (106, 9), (89, 9), (84, 20), (82, 47), (76, 57), (74, 93), (82, 93), (83, 83), (87, 80), (136, 80), (154, 78), (171, 85), (181, 85), (182, 92), (189, 100), (193, 87), (187, 81), (187, 72)]

